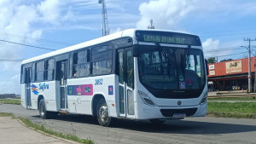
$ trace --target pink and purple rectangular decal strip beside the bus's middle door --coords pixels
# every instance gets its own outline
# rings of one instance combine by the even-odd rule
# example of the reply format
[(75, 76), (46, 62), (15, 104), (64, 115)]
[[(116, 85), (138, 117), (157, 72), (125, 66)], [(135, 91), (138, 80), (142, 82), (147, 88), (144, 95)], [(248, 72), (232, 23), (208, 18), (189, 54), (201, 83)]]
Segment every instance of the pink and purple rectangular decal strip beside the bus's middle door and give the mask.
[(92, 94), (93, 94), (92, 84), (67, 86), (67, 95), (92, 95)]

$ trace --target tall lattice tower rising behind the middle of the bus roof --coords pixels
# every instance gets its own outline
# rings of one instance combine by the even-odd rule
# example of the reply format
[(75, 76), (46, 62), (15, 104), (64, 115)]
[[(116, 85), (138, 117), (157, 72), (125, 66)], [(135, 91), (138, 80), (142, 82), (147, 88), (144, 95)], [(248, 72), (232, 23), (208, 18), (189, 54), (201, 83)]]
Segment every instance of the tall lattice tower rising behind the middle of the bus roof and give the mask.
[(106, 3), (105, 0), (99, 0), (98, 3), (102, 3), (102, 36), (107, 36), (109, 34), (109, 29)]

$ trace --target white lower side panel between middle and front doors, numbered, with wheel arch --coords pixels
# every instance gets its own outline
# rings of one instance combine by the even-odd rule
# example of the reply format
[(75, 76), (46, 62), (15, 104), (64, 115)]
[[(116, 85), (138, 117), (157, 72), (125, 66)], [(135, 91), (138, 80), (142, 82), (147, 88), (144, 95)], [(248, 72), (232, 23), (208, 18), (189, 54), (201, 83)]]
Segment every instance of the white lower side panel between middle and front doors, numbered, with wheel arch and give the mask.
[[(91, 103), (94, 95), (103, 95), (107, 101), (110, 116), (116, 117), (115, 95), (113, 93), (115, 75), (67, 80), (68, 111), (92, 115)], [(112, 106), (113, 104), (113, 106)]]

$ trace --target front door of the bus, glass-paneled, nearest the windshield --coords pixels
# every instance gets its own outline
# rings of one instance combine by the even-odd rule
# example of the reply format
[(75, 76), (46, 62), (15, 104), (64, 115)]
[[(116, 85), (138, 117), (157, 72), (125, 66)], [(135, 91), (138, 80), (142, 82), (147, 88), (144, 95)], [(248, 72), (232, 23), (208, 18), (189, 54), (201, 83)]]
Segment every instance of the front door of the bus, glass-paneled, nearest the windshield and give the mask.
[(134, 66), (131, 49), (118, 50), (119, 116), (134, 118)]

